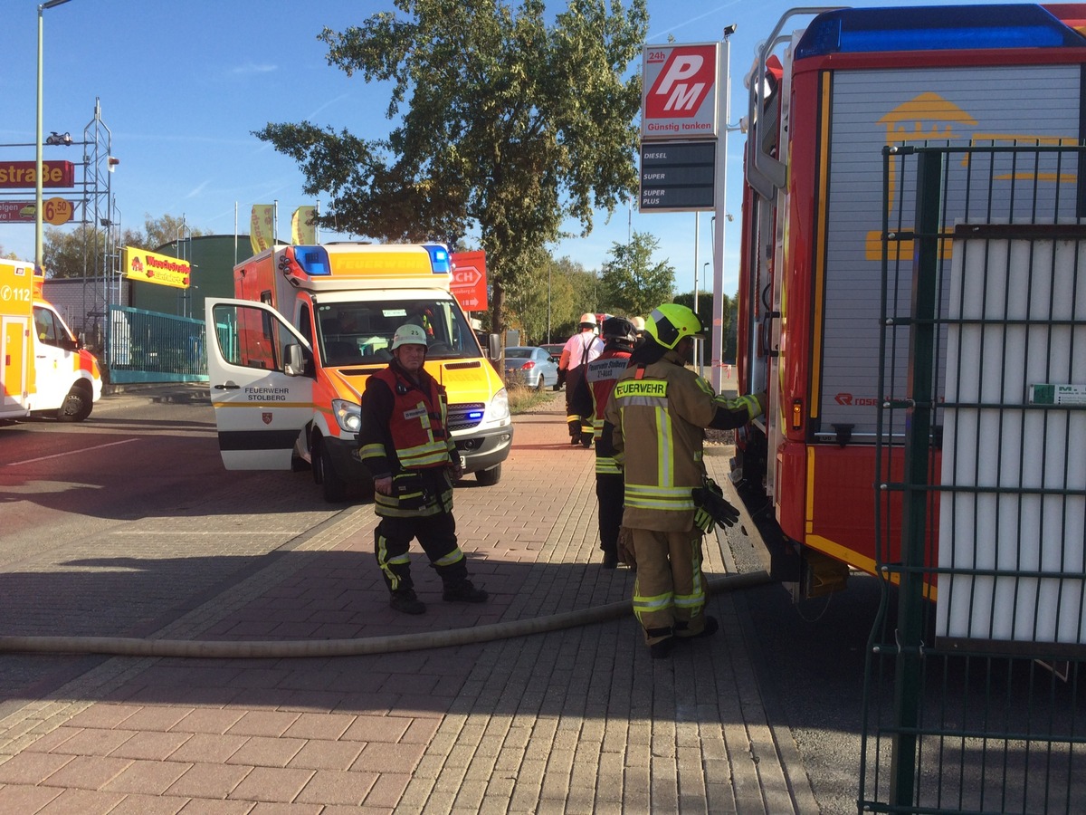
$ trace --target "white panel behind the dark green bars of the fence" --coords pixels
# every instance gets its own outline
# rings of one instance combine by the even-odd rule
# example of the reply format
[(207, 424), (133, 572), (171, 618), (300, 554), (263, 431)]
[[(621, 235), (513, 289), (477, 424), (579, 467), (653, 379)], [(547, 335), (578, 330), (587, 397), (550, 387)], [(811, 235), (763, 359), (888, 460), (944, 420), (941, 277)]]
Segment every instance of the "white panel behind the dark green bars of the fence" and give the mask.
[[(955, 243), (951, 318), (1038, 324), (948, 331), (940, 480), (976, 489), (942, 493), (938, 565), (997, 574), (939, 575), (940, 637), (1086, 642), (1086, 498), (1065, 494), (1086, 490), (1086, 412), (1025, 408), (1031, 385), (1086, 384), (1084, 252), (1074, 242)], [(1068, 576), (998, 574), (1011, 570)]]

